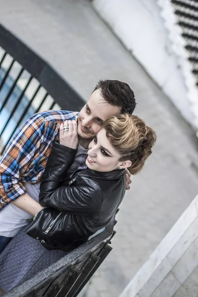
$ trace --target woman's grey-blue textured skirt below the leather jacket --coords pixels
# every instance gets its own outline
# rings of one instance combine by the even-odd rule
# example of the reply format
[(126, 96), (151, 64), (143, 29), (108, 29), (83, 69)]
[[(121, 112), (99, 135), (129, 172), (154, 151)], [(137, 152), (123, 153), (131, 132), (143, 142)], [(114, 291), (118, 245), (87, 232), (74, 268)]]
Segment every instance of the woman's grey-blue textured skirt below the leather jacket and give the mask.
[(47, 250), (27, 234), (24, 227), (0, 253), (0, 288), (8, 292), (37, 272), (64, 257), (67, 252)]

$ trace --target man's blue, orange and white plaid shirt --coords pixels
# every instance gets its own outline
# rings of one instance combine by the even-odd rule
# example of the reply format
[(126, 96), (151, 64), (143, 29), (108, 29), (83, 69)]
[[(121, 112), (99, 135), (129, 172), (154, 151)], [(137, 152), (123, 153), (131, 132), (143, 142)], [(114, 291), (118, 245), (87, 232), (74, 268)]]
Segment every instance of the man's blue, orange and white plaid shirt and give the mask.
[(0, 209), (26, 192), (23, 182), (41, 181), (58, 128), (78, 112), (49, 110), (34, 114), (17, 131), (0, 160)]

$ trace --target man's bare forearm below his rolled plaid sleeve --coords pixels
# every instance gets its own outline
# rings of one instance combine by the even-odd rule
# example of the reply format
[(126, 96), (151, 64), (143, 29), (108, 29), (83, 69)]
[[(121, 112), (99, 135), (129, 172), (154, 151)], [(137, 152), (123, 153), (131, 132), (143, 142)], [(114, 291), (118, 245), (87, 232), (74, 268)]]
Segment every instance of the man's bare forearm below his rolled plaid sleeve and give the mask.
[(23, 209), (24, 211), (32, 214), (33, 216), (35, 215), (35, 213), (39, 212), (42, 208), (44, 208), (39, 204), (39, 202), (35, 201), (28, 193), (24, 193), (11, 203)]

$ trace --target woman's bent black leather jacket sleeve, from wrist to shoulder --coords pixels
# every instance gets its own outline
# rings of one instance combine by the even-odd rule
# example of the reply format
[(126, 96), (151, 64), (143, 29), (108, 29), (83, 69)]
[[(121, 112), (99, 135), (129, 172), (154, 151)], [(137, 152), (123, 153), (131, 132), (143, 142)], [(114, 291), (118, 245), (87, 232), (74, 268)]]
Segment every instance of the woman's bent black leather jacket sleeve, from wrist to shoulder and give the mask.
[(40, 187), (39, 201), (59, 211), (76, 215), (89, 215), (99, 209), (102, 192), (97, 183), (79, 176), (76, 182), (61, 186), (65, 174), (72, 164), (74, 149), (54, 144)]

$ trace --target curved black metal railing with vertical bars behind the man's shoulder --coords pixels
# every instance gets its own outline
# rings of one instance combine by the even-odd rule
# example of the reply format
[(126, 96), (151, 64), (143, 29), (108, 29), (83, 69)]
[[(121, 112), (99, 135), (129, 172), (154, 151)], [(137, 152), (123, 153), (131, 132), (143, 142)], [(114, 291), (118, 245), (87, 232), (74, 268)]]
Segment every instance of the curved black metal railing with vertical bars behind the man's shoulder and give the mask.
[(32, 114), (48, 109), (78, 111), (83, 105), (47, 62), (0, 25), (0, 154)]

